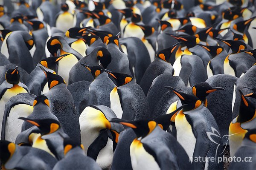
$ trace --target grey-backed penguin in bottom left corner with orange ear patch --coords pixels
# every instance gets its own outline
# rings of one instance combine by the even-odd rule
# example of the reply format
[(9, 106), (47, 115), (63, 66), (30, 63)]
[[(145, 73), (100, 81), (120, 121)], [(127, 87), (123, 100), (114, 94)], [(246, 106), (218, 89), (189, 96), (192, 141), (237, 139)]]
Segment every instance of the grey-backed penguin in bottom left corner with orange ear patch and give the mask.
[(0, 141), (0, 149), (0, 160), (5, 169), (52, 169), (57, 163), (57, 159), (44, 150), (5, 140)]

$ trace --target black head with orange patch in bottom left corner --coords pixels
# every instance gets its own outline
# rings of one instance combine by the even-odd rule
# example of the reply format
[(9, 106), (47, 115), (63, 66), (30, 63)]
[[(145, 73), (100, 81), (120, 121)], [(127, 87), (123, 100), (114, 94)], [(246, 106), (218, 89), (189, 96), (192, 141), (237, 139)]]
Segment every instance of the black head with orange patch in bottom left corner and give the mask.
[(0, 140), (0, 160), (2, 164), (6, 164), (6, 162), (13, 156), (15, 153), (16, 144), (6, 141), (6, 140)]

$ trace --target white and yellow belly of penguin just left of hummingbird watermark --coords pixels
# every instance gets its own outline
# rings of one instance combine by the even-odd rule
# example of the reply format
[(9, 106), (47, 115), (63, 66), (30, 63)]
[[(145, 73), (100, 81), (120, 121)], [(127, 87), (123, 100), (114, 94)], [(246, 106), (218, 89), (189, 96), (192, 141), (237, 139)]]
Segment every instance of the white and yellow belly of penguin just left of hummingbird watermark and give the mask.
[(185, 115), (179, 113), (175, 118), (175, 126), (177, 129), (177, 141), (185, 149), (189, 158), (193, 157), (196, 139), (192, 132), (191, 125), (187, 122)]

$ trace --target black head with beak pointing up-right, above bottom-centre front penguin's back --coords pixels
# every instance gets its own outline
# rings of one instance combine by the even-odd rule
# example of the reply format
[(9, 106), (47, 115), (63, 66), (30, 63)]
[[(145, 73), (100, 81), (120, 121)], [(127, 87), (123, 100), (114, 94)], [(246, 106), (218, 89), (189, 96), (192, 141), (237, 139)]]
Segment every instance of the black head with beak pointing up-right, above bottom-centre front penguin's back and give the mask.
[[(185, 104), (186, 105), (186, 104)], [(156, 119), (154, 119), (155, 122), (157, 122), (157, 124), (163, 129), (163, 130), (168, 130), (168, 127), (170, 126), (170, 124), (172, 122), (175, 122), (175, 116), (177, 115), (177, 113), (185, 106), (182, 105), (179, 108), (177, 108), (175, 111), (173, 111), (172, 113), (168, 113), (168, 114), (163, 114), (158, 116)]]

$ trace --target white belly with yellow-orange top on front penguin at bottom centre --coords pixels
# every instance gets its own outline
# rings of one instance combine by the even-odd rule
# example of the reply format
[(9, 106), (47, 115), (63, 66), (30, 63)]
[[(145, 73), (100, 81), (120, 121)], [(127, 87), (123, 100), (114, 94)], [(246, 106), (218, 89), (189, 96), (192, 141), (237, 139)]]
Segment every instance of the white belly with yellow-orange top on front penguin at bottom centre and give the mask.
[(134, 139), (130, 146), (131, 166), (133, 170), (160, 170), (156, 160)]

